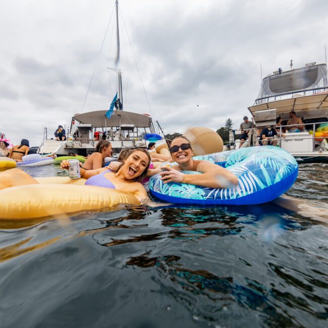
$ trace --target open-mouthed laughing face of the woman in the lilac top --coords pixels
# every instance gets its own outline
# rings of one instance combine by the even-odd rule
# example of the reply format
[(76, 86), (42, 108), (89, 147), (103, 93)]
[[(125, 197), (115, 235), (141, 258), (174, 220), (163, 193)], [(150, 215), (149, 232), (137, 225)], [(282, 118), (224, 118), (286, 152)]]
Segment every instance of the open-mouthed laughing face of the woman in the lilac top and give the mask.
[(149, 157), (141, 150), (134, 151), (124, 162), (120, 171), (128, 180), (134, 180), (149, 167)]

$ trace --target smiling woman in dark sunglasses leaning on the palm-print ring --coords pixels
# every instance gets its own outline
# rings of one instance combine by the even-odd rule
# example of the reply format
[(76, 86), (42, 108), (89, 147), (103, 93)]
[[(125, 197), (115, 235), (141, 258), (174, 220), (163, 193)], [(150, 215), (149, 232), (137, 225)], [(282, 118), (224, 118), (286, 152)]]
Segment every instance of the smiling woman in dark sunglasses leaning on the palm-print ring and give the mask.
[[(238, 178), (229, 170), (215, 165), (207, 160), (192, 158), (193, 150), (188, 138), (181, 136), (171, 142), (170, 153), (173, 161), (177, 163), (172, 168), (166, 167), (149, 170), (148, 176), (159, 174), (163, 183), (188, 183), (208, 188), (228, 188), (238, 185)], [(197, 171), (202, 174), (184, 174), (181, 171)]]

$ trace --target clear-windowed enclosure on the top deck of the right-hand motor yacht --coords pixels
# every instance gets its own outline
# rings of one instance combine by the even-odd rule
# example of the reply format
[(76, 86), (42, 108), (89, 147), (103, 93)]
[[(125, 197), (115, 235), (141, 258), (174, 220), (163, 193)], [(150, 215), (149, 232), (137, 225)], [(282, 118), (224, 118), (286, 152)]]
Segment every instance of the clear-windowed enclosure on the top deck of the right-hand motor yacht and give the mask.
[(265, 77), (256, 100), (282, 93), (327, 87), (325, 64), (310, 65), (286, 72), (277, 71)]

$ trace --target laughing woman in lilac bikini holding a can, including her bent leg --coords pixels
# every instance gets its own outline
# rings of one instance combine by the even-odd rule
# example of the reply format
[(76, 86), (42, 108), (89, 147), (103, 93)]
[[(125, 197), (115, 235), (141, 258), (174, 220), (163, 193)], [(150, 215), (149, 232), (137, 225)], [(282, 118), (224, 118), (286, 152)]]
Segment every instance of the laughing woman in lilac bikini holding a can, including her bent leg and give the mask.
[[(88, 179), (86, 185), (107, 187), (134, 195), (142, 204), (150, 203), (142, 181), (147, 175), (150, 164), (150, 156), (145, 149), (133, 149), (130, 155), (121, 163), (117, 172), (106, 168), (97, 170), (84, 170), (81, 168), (81, 176)], [(68, 169), (69, 162), (63, 160), (62, 169)], [(29, 174), (21, 169), (12, 169), (0, 173), (0, 189), (38, 184)], [(65, 190), (65, 185), (63, 185)]]

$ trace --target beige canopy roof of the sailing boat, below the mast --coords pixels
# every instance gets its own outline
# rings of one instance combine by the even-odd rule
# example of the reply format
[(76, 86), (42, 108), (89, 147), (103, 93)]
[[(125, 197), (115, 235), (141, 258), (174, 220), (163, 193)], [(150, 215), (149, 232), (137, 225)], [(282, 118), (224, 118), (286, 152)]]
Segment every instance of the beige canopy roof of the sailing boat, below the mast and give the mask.
[(76, 114), (72, 119), (81, 124), (91, 124), (93, 128), (120, 127), (133, 124), (136, 128), (147, 128), (151, 126), (151, 118), (147, 115), (126, 111), (113, 111), (110, 119), (105, 114), (107, 111), (95, 111), (84, 114)]

